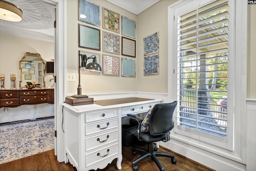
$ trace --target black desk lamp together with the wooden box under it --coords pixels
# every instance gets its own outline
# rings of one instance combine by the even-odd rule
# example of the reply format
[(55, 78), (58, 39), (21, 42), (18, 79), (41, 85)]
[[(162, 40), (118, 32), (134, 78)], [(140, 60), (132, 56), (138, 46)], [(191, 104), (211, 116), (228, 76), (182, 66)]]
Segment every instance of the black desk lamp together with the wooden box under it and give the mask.
[[(97, 63), (96, 56), (92, 55), (87, 57), (86, 54), (78, 54), (79, 59), (79, 66), (78, 66), (78, 87), (77, 87), (77, 94), (74, 94), (72, 97), (66, 97), (66, 103), (70, 105), (86, 105), (86, 104), (93, 104), (93, 98), (88, 97), (88, 95), (82, 94), (82, 87), (81, 87), (81, 74), (80, 68), (85, 68), (86, 70), (94, 70), (101, 72), (101, 66)], [(93, 59), (93, 61), (87, 64), (89, 59)]]

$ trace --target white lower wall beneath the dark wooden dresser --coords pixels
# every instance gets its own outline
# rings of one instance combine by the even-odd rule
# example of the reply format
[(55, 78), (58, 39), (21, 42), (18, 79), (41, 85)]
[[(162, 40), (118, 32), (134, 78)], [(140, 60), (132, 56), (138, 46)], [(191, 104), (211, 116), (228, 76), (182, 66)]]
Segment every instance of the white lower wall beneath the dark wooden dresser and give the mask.
[(54, 116), (54, 104), (48, 103), (8, 107), (8, 111), (4, 108), (0, 108), (0, 123)]

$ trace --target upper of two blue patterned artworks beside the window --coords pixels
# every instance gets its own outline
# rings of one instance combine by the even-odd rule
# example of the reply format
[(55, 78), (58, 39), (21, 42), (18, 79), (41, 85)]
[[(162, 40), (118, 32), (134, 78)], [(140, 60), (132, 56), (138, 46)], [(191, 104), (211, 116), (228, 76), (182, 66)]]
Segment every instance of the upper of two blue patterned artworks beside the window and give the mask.
[(159, 32), (144, 38), (144, 55), (159, 52)]

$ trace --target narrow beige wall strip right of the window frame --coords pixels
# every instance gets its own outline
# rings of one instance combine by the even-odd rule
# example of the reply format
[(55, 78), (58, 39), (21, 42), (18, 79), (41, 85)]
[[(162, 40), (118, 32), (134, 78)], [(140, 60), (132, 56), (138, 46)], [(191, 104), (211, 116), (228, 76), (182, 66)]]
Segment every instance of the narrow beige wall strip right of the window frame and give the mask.
[(248, 5), (247, 97), (256, 99), (256, 6)]

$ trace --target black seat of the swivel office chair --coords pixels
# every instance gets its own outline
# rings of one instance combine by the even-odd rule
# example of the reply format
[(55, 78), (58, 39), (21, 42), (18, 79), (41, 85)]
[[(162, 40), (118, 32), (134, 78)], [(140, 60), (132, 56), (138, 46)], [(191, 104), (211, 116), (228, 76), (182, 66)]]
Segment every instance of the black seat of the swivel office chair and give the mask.
[[(138, 126), (128, 128), (127, 131), (132, 133), (135, 137), (138, 137)], [(165, 139), (165, 135), (152, 136), (149, 132), (140, 133), (140, 139), (143, 139), (146, 143), (162, 141)]]

